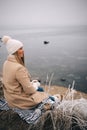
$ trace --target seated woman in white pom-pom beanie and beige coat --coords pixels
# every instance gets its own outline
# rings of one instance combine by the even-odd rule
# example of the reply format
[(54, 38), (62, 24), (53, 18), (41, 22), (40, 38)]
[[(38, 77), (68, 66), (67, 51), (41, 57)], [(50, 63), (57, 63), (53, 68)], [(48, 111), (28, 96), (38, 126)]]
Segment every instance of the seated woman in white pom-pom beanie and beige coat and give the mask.
[(48, 95), (37, 91), (30, 82), (31, 76), (24, 64), (23, 43), (9, 36), (3, 36), (2, 42), (9, 54), (3, 65), (4, 97), (11, 108), (32, 108)]

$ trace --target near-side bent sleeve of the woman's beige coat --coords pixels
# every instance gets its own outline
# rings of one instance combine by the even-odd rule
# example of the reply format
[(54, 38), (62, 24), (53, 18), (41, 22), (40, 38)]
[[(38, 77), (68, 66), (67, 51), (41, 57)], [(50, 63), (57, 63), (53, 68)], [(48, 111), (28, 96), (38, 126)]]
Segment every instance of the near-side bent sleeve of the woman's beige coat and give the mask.
[(23, 90), (26, 94), (33, 94), (36, 92), (36, 89), (32, 86), (30, 82), (30, 77), (25, 67), (22, 66), (17, 69), (16, 79), (22, 85)]

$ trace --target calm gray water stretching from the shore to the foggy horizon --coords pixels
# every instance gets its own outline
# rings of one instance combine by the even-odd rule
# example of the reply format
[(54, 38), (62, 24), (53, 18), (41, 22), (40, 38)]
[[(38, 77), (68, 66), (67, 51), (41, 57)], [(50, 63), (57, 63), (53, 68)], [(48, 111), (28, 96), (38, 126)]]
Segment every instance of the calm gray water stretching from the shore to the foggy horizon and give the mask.
[[(87, 93), (87, 26), (46, 28), (1, 28), (0, 36), (10, 35), (24, 43), (25, 63), (31, 76), (45, 84), (74, 88)], [(43, 41), (49, 41), (44, 45)], [(0, 71), (7, 57), (0, 43)], [(65, 81), (61, 81), (65, 79)]]

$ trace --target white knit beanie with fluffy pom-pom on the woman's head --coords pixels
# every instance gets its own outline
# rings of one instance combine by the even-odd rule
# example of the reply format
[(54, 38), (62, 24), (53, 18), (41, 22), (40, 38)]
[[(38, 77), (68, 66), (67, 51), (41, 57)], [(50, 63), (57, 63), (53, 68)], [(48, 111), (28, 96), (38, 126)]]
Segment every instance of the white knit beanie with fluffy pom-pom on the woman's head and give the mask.
[(10, 36), (3, 36), (2, 37), (2, 42), (6, 45), (8, 54), (13, 54), (15, 53), (18, 49), (23, 47), (23, 43), (12, 39)]

